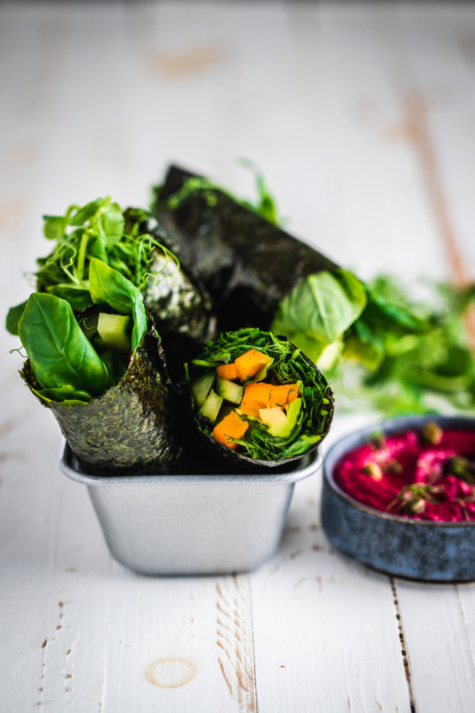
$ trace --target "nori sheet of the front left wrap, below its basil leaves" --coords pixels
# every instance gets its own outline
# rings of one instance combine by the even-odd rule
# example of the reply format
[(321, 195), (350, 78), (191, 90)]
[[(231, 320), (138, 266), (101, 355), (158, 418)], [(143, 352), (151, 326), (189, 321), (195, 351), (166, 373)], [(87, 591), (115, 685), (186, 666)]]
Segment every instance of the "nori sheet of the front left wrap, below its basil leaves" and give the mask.
[[(29, 359), (20, 375), (29, 389), (38, 388)], [(155, 328), (142, 338), (117, 386), (98, 399), (64, 406), (37, 398), (53, 411), (85, 472), (104, 476), (176, 470), (181, 443), (174, 393)]]

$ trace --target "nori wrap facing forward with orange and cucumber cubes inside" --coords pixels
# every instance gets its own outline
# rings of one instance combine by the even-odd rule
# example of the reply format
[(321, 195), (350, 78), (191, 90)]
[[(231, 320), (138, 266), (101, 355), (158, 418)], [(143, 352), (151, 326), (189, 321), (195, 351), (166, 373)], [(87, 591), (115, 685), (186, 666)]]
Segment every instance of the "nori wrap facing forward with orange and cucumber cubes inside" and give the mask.
[(325, 377), (271, 332), (220, 334), (187, 364), (186, 374), (200, 457), (214, 471), (288, 469), (330, 429), (333, 394)]

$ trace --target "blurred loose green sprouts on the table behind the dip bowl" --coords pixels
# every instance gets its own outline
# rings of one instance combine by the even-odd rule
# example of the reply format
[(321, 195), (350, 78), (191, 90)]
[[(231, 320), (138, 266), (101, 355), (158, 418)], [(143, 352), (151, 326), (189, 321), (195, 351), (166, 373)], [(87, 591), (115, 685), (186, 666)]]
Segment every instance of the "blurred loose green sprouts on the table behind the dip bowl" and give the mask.
[(466, 315), (475, 287), (427, 285), (414, 299), (394, 277), (369, 287), (371, 309), (343, 339), (333, 387), (346, 409), (368, 404), (387, 415), (475, 410), (475, 365)]

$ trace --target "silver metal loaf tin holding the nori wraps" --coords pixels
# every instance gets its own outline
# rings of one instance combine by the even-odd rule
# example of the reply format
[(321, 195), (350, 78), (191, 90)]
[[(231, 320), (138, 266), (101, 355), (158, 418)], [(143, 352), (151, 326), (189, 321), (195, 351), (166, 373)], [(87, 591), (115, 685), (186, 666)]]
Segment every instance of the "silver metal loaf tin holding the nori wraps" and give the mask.
[(295, 483), (320, 466), (313, 452), (286, 473), (91, 476), (67, 444), (60, 461), (88, 487), (113, 557), (147, 575), (256, 568), (278, 547)]

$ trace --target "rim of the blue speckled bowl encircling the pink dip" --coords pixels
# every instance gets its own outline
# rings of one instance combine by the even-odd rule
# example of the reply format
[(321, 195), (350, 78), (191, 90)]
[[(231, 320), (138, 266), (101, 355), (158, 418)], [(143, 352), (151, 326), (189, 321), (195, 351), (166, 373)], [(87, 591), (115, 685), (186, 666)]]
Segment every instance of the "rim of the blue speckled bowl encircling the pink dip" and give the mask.
[(348, 495), (348, 493), (345, 493), (345, 491), (343, 491), (342, 488), (335, 483), (333, 471), (336, 463), (345, 455), (345, 453), (353, 451), (355, 448), (364, 445), (365, 442), (367, 442), (368, 436), (373, 434), (375, 431), (382, 431), (385, 435), (398, 434), (412, 428), (420, 427), (427, 421), (434, 421), (437, 425), (441, 426), (442, 429), (448, 429), (451, 427), (466, 429), (467, 431), (475, 431), (475, 417), (462, 416), (459, 414), (454, 414), (453, 416), (442, 414), (398, 416), (395, 419), (383, 419), (382, 421), (377, 421), (375, 424), (363, 426), (360, 429), (350, 431), (341, 438), (338, 438), (338, 441), (333, 443), (333, 446), (331, 446), (328, 452), (325, 453), (325, 457), (323, 458), (323, 487), (327, 486), (335, 496), (340, 498), (340, 500), (345, 501), (356, 510), (360, 510), (367, 515), (372, 515), (372, 517), (375, 518), (392, 520), (400, 525), (405, 524), (408, 527), (422, 526), (446, 529), (466, 528), (470, 526), (474, 527), (475, 520), (461, 520), (459, 522), (453, 522), (451, 520), (414, 520), (414, 518), (404, 518), (403, 515), (395, 515), (393, 513), (376, 510), (376, 508), (371, 508), (364, 503), (360, 503), (360, 501), (357, 501), (355, 498)]

